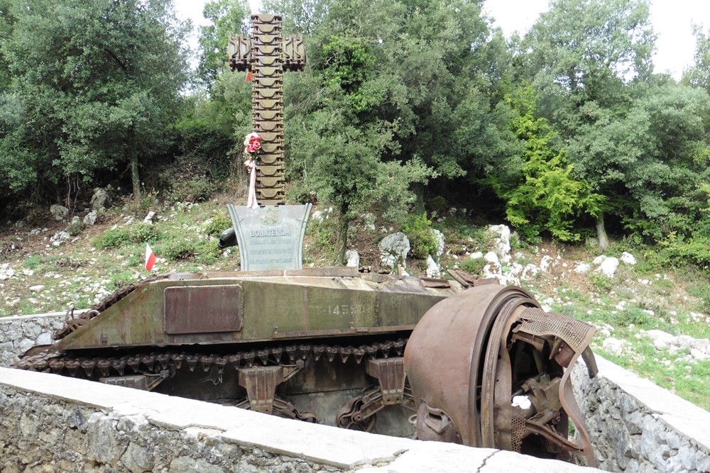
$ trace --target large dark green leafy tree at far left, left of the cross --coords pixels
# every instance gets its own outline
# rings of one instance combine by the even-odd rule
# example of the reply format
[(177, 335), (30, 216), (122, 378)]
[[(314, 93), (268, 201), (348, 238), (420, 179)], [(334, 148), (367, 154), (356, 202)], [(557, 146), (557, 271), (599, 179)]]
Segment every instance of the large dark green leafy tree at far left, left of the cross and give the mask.
[[(11, 0), (2, 43), (13, 113), (0, 140), (11, 189), (66, 185), (66, 198), (100, 172), (165, 150), (187, 79), (187, 28), (170, 0)], [(6, 108), (8, 109), (8, 108)], [(66, 184), (62, 184), (66, 183)]]

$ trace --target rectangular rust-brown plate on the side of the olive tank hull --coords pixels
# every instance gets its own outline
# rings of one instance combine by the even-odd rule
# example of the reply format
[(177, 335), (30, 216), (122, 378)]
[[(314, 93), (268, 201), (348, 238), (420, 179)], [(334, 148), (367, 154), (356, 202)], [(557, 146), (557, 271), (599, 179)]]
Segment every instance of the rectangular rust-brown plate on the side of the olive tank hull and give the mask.
[(185, 286), (165, 288), (165, 333), (237, 332), (239, 286)]

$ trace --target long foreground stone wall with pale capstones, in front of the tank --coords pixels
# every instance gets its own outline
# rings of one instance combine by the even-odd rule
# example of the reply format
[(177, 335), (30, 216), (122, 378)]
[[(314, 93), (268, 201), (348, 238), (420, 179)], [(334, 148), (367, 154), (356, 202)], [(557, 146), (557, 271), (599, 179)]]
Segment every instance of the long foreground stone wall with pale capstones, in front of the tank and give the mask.
[(598, 471), (19, 369), (0, 368), (0, 410), (3, 473)]

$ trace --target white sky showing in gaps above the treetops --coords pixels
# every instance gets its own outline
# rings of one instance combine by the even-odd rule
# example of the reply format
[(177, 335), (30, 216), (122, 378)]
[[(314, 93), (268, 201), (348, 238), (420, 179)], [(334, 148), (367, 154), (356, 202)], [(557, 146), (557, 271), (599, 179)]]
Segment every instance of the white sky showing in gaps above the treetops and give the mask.
[[(261, 0), (249, 0), (249, 4), (251, 11), (257, 13)], [(204, 24), (204, 0), (175, 0), (175, 5), (178, 16), (191, 18), (195, 25)], [(516, 30), (522, 34), (547, 10), (547, 0), (486, 0), (484, 9), (506, 35)], [(680, 79), (683, 70), (693, 63), (692, 23), (704, 25), (706, 30), (710, 28), (710, 1), (652, 0), (650, 13), (658, 35), (653, 57), (655, 72), (670, 72), (675, 79)]]

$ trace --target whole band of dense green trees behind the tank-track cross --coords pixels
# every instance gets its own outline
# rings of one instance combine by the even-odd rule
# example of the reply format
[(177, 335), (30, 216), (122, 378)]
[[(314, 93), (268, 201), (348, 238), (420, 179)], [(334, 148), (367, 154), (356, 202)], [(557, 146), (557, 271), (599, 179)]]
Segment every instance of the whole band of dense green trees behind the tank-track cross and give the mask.
[[(266, 0), (307, 43), (305, 72), (284, 84), (290, 199), (334, 208), (340, 252), (371, 208), (401, 226), (457, 206), (528, 240), (604, 243), (608, 230), (706, 266), (706, 31), (694, 28), (696, 63), (677, 82), (652, 72), (648, 0), (552, 0), (509, 39), (483, 6)], [(248, 30), (248, 6), (207, 1), (191, 88), (186, 26), (171, 11), (170, 0), (0, 0), (4, 213), (20, 200), (72, 204), (116, 176), (137, 194), (153, 162), (183, 170), (153, 181), (175, 198), (204, 198), (205, 179), (239, 169), (250, 84), (224, 51)]]

